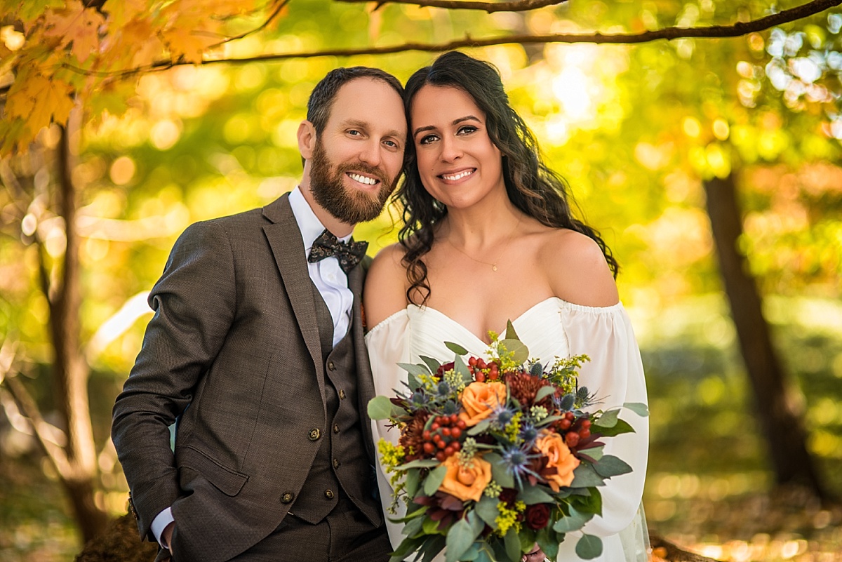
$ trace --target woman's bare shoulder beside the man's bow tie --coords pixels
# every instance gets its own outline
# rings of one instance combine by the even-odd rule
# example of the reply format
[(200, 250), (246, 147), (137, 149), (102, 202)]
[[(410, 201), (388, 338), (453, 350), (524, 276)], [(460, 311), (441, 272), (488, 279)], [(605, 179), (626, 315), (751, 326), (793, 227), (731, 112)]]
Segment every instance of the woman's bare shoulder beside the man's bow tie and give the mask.
[(369, 326), (376, 326), (398, 310), (407, 307), (407, 270), (403, 267), (404, 248), (392, 244), (377, 252), (365, 276), (363, 305)]

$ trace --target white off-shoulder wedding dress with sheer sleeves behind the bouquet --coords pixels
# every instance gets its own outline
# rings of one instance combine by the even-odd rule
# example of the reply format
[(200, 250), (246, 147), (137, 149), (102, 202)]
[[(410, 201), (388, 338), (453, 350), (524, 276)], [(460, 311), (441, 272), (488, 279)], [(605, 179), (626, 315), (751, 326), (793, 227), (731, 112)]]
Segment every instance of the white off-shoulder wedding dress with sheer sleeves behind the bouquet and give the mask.
[[(607, 307), (574, 305), (555, 297), (542, 300), (513, 319), (514, 331), (529, 347), (531, 358), (552, 363), (556, 357), (585, 353), (590, 361), (579, 371), (579, 384), (600, 400), (597, 408), (607, 410), (624, 402), (647, 402), (646, 382), (637, 342), (626, 310), (618, 303)], [(505, 326), (499, 326), (500, 333)], [(371, 370), (378, 395), (392, 396), (406, 390), (406, 372), (397, 363), (421, 363), (420, 356), (442, 363), (453, 360), (444, 342), (456, 342), (469, 353), (484, 357), (488, 344), (447, 315), (427, 306), (409, 305), (399, 310), (365, 336)], [(616, 476), (602, 488), (603, 512), (584, 528), (599, 536), (603, 553), (598, 562), (642, 562), (647, 559), (648, 536), (642, 517), (641, 497), (646, 477), (649, 423), (632, 411), (621, 411), (634, 433), (606, 440), (605, 453), (613, 454), (632, 466), (632, 473)], [(386, 422), (372, 422), (375, 442), (381, 437), (397, 443), (397, 428)], [(381, 467), (377, 470), (384, 511), (392, 505), (392, 488)], [(401, 517), (401, 512), (386, 517)], [(401, 543), (401, 524), (387, 522), (392, 547)], [(559, 561), (579, 560), (574, 552), (581, 533), (569, 533), (558, 551)], [(443, 559), (443, 557), (440, 557)]]

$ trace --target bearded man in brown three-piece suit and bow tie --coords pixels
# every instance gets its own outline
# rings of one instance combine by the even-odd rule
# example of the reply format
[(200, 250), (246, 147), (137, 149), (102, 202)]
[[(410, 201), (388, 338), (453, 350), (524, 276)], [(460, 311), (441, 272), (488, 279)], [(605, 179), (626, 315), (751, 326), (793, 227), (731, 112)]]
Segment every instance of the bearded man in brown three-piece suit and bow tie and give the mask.
[(298, 187), (191, 225), (173, 247), (112, 427), (157, 559), (388, 559), (366, 415), (365, 242), (350, 235), (400, 175), (401, 95), (380, 70), (328, 73), (298, 129)]

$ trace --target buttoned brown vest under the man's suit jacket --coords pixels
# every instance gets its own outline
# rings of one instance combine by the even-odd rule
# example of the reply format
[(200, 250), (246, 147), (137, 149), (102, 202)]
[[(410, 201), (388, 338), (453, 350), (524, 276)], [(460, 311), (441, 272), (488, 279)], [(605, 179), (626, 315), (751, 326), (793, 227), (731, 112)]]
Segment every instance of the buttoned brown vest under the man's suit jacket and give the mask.
[[(333, 318), (322, 295), (313, 286), (322, 361), (328, 427), (310, 473), (290, 509), (296, 517), (317, 523), (337, 505), (343, 494), (376, 526), (382, 522), (380, 501), (372, 493), (371, 466), (365, 453), (364, 431), (357, 410), (357, 367), (353, 328), (333, 347)], [(352, 319), (353, 322), (353, 319)]]

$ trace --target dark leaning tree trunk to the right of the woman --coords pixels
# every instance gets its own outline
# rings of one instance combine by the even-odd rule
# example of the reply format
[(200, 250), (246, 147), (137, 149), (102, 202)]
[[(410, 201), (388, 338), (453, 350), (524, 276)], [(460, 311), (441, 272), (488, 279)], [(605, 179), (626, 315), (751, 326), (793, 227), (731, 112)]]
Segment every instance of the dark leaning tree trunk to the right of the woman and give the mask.
[(792, 406), (790, 390), (772, 347), (769, 325), (745, 257), (738, 251), (743, 223), (732, 176), (704, 182), (707, 214), (717, 247), (722, 281), (737, 328), (740, 351), (754, 391), (760, 427), (778, 484), (807, 486), (824, 498), (823, 486), (807, 452), (807, 435)]

